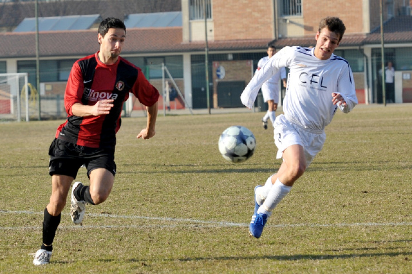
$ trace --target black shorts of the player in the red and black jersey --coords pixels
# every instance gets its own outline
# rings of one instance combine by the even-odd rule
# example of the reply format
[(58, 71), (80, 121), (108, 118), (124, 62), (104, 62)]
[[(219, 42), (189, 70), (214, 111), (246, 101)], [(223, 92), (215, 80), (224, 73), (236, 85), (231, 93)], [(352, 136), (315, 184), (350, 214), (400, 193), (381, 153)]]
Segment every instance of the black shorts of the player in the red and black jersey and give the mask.
[(116, 175), (115, 151), (102, 148), (84, 147), (60, 139), (54, 139), (49, 148), (49, 174), (66, 175), (76, 178), (82, 165), (91, 170), (105, 168)]

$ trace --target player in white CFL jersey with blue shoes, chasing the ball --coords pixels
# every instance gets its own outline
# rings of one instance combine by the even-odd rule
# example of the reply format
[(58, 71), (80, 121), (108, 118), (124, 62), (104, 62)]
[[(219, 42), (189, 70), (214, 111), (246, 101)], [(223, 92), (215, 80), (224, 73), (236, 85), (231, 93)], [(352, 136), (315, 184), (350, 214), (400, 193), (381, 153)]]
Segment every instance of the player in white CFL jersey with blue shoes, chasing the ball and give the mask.
[(315, 48), (283, 48), (241, 95), (242, 103), (252, 108), (260, 86), (281, 67), (289, 67), (284, 115), (278, 115), (274, 124), (277, 158), (283, 162), (264, 186), (255, 187), (255, 212), (249, 226), (253, 237), (260, 237), (272, 210), (321, 151), (326, 139), (324, 129), (337, 108), (348, 113), (358, 104), (351, 68), (346, 60), (333, 54), (344, 32), (345, 25), (339, 18), (323, 18)]

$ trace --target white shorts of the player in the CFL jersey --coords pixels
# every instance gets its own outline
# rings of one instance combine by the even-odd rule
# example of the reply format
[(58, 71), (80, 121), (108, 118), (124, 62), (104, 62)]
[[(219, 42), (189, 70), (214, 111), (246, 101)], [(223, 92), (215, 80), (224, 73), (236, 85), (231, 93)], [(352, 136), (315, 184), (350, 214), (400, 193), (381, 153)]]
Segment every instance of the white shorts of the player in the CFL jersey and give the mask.
[(276, 117), (274, 122), (275, 145), (278, 147), (276, 159), (281, 159), (283, 151), (291, 145), (301, 145), (305, 152), (306, 164), (309, 166), (318, 154), (326, 140), (325, 131), (309, 131), (290, 122), (285, 115)]

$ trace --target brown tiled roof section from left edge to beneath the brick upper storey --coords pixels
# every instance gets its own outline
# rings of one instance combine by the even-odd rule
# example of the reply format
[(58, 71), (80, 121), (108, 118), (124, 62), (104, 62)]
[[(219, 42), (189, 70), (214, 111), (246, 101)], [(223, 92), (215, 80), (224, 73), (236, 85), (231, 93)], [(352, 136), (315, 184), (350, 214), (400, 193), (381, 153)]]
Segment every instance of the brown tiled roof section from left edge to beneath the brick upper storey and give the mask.
[[(211, 41), (211, 51), (260, 50), (268, 39)], [(39, 55), (73, 56), (88, 55), (98, 50), (97, 30), (40, 32)], [(128, 29), (123, 54), (167, 53), (204, 51), (205, 42), (182, 43), (182, 28)], [(0, 33), (0, 57), (34, 57), (35, 33)]]

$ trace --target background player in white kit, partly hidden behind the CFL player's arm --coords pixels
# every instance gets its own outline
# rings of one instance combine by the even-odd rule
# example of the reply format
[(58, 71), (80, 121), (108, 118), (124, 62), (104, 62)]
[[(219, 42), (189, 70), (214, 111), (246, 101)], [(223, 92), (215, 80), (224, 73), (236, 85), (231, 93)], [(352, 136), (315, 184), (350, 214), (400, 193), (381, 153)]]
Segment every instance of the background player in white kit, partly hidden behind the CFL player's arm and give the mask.
[[(258, 71), (263, 67), (264, 64), (269, 61), (270, 58), (276, 53), (276, 48), (275, 45), (270, 42), (267, 45), (267, 56), (261, 58), (258, 62), (258, 69), (256, 69), (255, 74), (258, 73)], [(263, 101), (267, 102), (267, 112), (265, 116), (262, 118), (262, 123), (263, 123), (263, 128), (267, 129), (267, 120), (270, 119), (270, 121), (273, 123), (275, 122), (275, 111), (278, 108), (278, 102), (279, 102), (279, 79), (282, 79), (283, 87), (286, 87), (286, 69), (283, 67), (279, 70), (278, 73), (276, 73), (274, 76), (272, 76), (269, 80), (267, 80), (263, 85), (262, 85), (262, 95), (263, 95)]]

